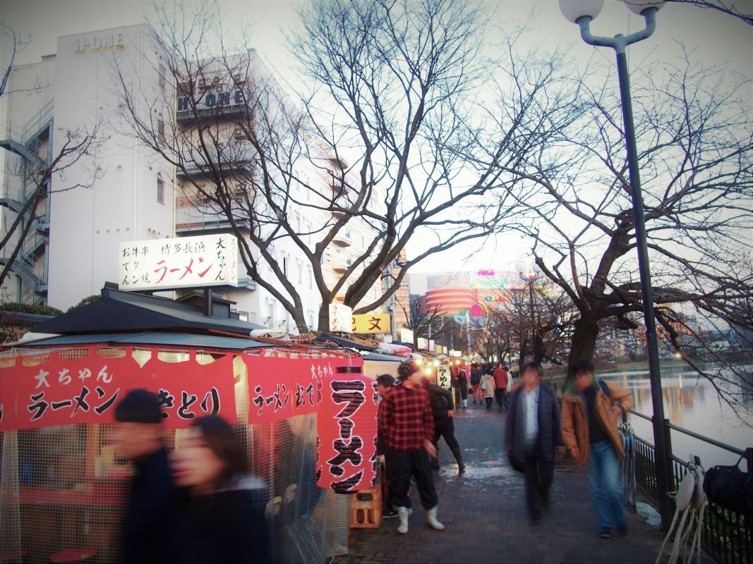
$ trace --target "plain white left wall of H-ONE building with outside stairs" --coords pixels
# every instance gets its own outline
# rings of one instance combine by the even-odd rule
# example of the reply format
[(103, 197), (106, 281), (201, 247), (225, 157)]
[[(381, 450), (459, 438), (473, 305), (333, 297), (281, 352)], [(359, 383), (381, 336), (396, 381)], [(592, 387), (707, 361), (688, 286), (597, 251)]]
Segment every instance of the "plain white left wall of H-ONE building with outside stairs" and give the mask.
[(154, 65), (140, 55), (149, 51), (150, 41), (147, 26), (69, 35), (58, 38), (55, 55), (11, 73), (10, 93), (0, 101), (6, 120), (0, 135), (6, 149), (4, 229), (34, 188), (23, 174), (14, 174), (33, 159), (29, 151), (48, 162), (59, 155), (69, 132), (91, 132), (97, 123), (102, 145), (98, 156), (84, 156), (62, 175), (53, 174), (32, 242), (2, 288), (3, 301), (65, 310), (99, 293), (105, 281), (117, 281), (120, 241), (172, 235), (172, 167), (148, 159), (114, 119), (120, 103), (114, 64), (130, 80), (158, 87)]

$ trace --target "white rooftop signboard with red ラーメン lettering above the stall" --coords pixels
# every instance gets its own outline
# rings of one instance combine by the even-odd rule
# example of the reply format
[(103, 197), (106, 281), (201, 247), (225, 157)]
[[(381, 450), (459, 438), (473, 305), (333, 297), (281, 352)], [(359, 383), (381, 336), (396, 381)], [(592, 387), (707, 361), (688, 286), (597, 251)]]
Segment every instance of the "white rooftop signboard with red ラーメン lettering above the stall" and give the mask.
[(120, 290), (237, 286), (238, 240), (200, 235), (120, 243)]

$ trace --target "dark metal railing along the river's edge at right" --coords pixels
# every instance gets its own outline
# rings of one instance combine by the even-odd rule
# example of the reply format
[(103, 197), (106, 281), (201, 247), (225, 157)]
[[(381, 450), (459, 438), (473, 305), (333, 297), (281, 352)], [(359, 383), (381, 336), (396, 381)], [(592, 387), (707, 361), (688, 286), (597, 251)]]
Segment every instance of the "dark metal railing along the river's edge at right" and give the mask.
[[(636, 417), (651, 421), (648, 415), (630, 411)], [(715, 447), (735, 453), (747, 460), (748, 472), (753, 472), (753, 448), (745, 450), (717, 441), (713, 438), (699, 435), (689, 429), (684, 429), (664, 420), (663, 429), (666, 437), (667, 450), (670, 453), (666, 465), (669, 466), (670, 484), (669, 489), (675, 491), (678, 489), (680, 481), (688, 472), (689, 462), (679, 459), (672, 454), (672, 442), (670, 440), (670, 431), (681, 432), (684, 435), (696, 438), (699, 441), (712, 444)], [(645, 439), (635, 438), (635, 456), (636, 456), (636, 489), (649, 504), (657, 510), (660, 507), (659, 494), (657, 491), (657, 476), (654, 445)], [(713, 464), (710, 461), (705, 462), (705, 468), (710, 468)], [(674, 511), (674, 505), (672, 506)], [(703, 547), (707, 553), (717, 562), (724, 564), (744, 564), (753, 562), (753, 523), (746, 519), (744, 515), (734, 511), (718, 507), (709, 502), (709, 508), (703, 518)]]

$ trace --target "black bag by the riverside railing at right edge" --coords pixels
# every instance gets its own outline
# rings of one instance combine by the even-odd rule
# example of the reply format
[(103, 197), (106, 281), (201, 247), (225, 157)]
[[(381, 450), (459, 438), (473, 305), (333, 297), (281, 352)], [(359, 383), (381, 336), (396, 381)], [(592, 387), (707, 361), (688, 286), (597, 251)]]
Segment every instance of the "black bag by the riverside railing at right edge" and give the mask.
[(742, 456), (731, 466), (715, 465), (706, 470), (703, 478), (703, 491), (709, 498), (709, 504), (718, 517), (729, 520), (721, 514), (719, 508), (734, 511), (736, 514), (753, 517), (753, 472), (742, 472), (739, 463)]

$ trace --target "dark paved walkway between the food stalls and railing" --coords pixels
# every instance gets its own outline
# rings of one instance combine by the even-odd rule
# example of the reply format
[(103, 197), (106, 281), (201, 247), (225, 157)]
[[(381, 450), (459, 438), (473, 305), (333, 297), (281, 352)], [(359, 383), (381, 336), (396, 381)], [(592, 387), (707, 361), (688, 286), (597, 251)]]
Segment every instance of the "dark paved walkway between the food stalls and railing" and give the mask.
[(398, 535), (397, 519), (380, 529), (352, 529), (349, 553), (337, 564), (498, 564), (498, 562), (654, 562), (663, 535), (637, 514), (628, 514), (629, 538), (596, 535), (596, 516), (584, 475), (569, 459), (554, 475), (551, 508), (541, 525), (529, 523), (523, 505), (523, 478), (503, 454), (505, 414), (473, 405), (457, 412), (456, 437), (468, 472), (457, 475), (452, 453), (441, 440), (442, 469), (435, 472), (438, 517), (447, 527), (425, 526), (416, 488), (410, 532)]

